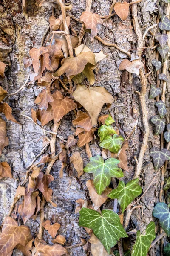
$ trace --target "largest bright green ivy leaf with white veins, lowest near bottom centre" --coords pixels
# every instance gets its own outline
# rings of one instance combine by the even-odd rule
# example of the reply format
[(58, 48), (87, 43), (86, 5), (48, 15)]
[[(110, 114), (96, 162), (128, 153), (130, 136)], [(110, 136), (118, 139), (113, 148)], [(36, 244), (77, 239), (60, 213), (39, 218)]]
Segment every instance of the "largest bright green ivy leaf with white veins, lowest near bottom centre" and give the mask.
[(119, 215), (112, 210), (102, 210), (102, 215), (94, 210), (82, 208), (79, 212), (79, 225), (91, 228), (94, 235), (102, 242), (108, 254), (121, 237), (128, 237)]

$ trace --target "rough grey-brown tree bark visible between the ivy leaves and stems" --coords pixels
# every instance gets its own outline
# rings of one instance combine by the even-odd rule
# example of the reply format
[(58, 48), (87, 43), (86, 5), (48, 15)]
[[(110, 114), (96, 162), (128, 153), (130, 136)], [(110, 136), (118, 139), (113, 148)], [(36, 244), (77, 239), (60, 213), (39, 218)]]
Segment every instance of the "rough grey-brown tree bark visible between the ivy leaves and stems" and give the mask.
[[(69, 1), (68, 1), (69, 2)], [(71, 13), (79, 18), (82, 11), (85, 11), (85, 0), (72, 0), (73, 9)], [(111, 6), (111, 0), (93, 1), (91, 10), (93, 12), (101, 12), (102, 15), (107, 15)], [(142, 1), (138, 4), (139, 24), (142, 32), (156, 22), (157, 7), (156, 0)], [(23, 57), (28, 56), (28, 52), (32, 47), (40, 47), (42, 36), (48, 27), (48, 18), (51, 16), (51, 7), (38, 6), (39, 1), (27, 0), (26, 6), (23, 9), (20, 0), (0, 0), (0, 60), (8, 64), (6, 71), (6, 79), (3, 81), (3, 88), (12, 93), (18, 90), (26, 81), (30, 68), (24, 68)], [(59, 10), (55, 10), (55, 16), (60, 15)], [(82, 25), (71, 19), (71, 27), (80, 31)], [(146, 46), (153, 45), (154, 29), (148, 32), (146, 37)], [(136, 48), (137, 37), (133, 30), (131, 15), (128, 16), (125, 22), (122, 22), (117, 15), (109, 18), (102, 27), (99, 36), (105, 41), (116, 43), (119, 47), (129, 50)], [(92, 44), (89, 41), (89, 47), (92, 49)], [(140, 79), (135, 74), (120, 72), (118, 67), (121, 59), (127, 58), (127, 55), (116, 50), (114, 47), (103, 46), (102, 43), (94, 40), (94, 52), (102, 51), (107, 58), (100, 61), (96, 68), (96, 83), (97, 86), (105, 87), (115, 98), (115, 102), (111, 107), (114, 119), (118, 122), (118, 128), (123, 137), (127, 137), (132, 131), (136, 119), (139, 122), (136, 131), (130, 137), (129, 150), (127, 151), (129, 172), (125, 172), (125, 180), (132, 179), (136, 161), (134, 156), (138, 158), (144, 127), (142, 123), (142, 112), (139, 102), (139, 95), (135, 92), (140, 91)], [(143, 62), (145, 63), (145, 73), (153, 71), (151, 61), (155, 58), (153, 49), (146, 49), (142, 52)], [(150, 84), (155, 84), (154, 72), (150, 75), (148, 82), (148, 90), (146, 95), (147, 110), (150, 125), (150, 136), (148, 148), (143, 159), (143, 167), (141, 173), (141, 185), (143, 191), (147, 189), (154, 177), (153, 163), (150, 158), (149, 149), (153, 146), (159, 146), (159, 137), (153, 135), (153, 124), (150, 118), (156, 114), (154, 106), (155, 101), (148, 99)], [(14, 199), (17, 186), (20, 181), (25, 178), (26, 167), (31, 163), (34, 157), (42, 150), (42, 130), (34, 125), (29, 119), (25, 119), (21, 114), (31, 116), (31, 108), (35, 107), (34, 100), (38, 93), (42, 90), (41, 87), (34, 85), (26, 86), (17, 95), (8, 98), (7, 102), (13, 109), (14, 117), (21, 125), (7, 121), (9, 145), (3, 150), (1, 161), (7, 161), (12, 169), (13, 179), (3, 178), (0, 181), (0, 223), (3, 223), (4, 217), (8, 214), (11, 203)], [(169, 107), (169, 105), (167, 106)], [(102, 113), (108, 113), (105, 108)], [(2, 115), (3, 116), (3, 115)], [(3, 116), (4, 118), (4, 116)], [(74, 112), (71, 111), (61, 120), (58, 134), (67, 140), (69, 134), (73, 134), (71, 130), (72, 120), (75, 119)], [(52, 122), (46, 125), (45, 129), (50, 130)], [(47, 135), (49, 136), (49, 135)], [(41, 139), (40, 139), (41, 138)], [(98, 139), (92, 141), (90, 145), (92, 156), (101, 154), (101, 148), (98, 145)], [(57, 138), (56, 153), (59, 152), (60, 139)], [(91, 177), (84, 173), (80, 179), (77, 179), (77, 172), (69, 163), (69, 156), (74, 152), (81, 152), (84, 160), (84, 165), (88, 163), (88, 157), (85, 153), (85, 148), (73, 146), (68, 150), (67, 167), (64, 169), (64, 177), (59, 178), (59, 170), (61, 161), (57, 160), (54, 164), (51, 174), (54, 176), (54, 181), (51, 183), (53, 189), (53, 201), (57, 203), (57, 208), (51, 206), (50, 203), (45, 205), (45, 218), (50, 219), (53, 223), (59, 222), (61, 228), (59, 234), (66, 238), (66, 246), (80, 243), (80, 238), (87, 238), (88, 235), (82, 227), (78, 225), (79, 215), (75, 215), (76, 207), (75, 200), (88, 197), (88, 189), (85, 186), (86, 181)], [(48, 152), (48, 150), (47, 150)], [(137, 228), (144, 230), (147, 224), (154, 218), (152, 211), (154, 204), (158, 202), (160, 189), (160, 175), (156, 178), (155, 183), (151, 186), (147, 195), (145, 195), (138, 204), (142, 206), (141, 215), (139, 218), (139, 209), (135, 209), (131, 215), (129, 228)], [(104, 204), (105, 208), (113, 208), (113, 201), (107, 201)], [(142, 214), (143, 212), (143, 214)], [(39, 226), (40, 214), (36, 221), (29, 220), (26, 222), (31, 228), (31, 231), (37, 232)], [(135, 236), (131, 236), (133, 240)], [(44, 239), (51, 243), (51, 237), (44, 231)], [(86, 256), (88, 255), (83, 247), (75, 247), (68, 250), (70, 256)], [(14, 256), (21, 255), (18, 250), (14, 250)], [(159, 256), (159, 246), (153, 247), (150, 255)]]

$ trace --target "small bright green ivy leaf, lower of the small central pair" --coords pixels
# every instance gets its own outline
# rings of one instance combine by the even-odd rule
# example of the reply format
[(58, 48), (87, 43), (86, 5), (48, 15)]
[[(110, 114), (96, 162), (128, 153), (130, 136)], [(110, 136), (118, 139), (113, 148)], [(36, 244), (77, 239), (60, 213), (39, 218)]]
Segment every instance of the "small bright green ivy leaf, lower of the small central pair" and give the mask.
[(121, 135), (114, 134), (113, 137), (111, 137), (111, 135), (106, 136), (104, 140), (102, 140), (102, 142), (99, 144), (99, 146), (101, 148), (108, 149), (113, 153), (118, 153), (122, 147), (123, 142), (124, 138)]

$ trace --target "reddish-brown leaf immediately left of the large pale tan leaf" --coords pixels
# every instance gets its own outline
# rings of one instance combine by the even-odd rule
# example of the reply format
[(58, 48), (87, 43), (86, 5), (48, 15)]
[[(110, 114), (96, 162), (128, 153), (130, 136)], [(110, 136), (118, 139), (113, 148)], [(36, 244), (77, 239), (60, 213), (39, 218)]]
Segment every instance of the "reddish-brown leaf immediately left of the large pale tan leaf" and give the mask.
[(63, 116), (76, 108), (76, 103), (69, 97), (64, 98), (59, 91), (55, 91), (52, 97), (54, 101), (51, 102), (50, 105), (53, 108), (54, 124), (56, 124)]

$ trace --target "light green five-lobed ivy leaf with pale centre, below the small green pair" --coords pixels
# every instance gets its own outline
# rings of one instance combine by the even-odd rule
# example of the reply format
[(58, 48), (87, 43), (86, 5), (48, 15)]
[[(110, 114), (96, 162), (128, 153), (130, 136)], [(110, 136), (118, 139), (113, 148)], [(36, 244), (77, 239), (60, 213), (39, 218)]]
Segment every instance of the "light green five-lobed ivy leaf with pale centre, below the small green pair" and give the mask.
[(109, 158), (104, 163), (101, 156), (96, 156), (91, 157), (90, 163), (85, 166), (84, 171), (94, 175), (94, 186), (99, 195), (111, 183), (111, 177), (121, 178), (124, 176), (118, 163), (120, 161), (115, 158)]

